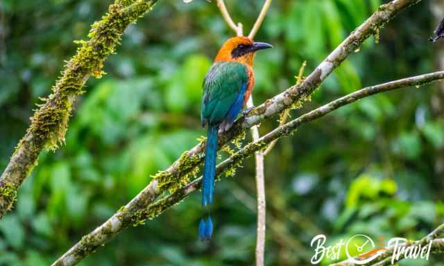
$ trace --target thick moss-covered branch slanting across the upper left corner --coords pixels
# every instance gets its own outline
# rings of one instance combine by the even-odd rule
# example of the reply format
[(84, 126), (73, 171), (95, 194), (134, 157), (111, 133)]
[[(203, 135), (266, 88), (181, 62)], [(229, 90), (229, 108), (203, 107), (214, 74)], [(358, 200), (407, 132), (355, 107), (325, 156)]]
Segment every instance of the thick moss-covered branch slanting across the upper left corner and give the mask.
[(89, 39), (76, 41), (80, 44), (76, 55), (67, 62), (65, 71), (52, 88), (52, 94), (38, 105), (30, 127), (0, 177), (0, 218), (11, 209), (17, 189), (37, 164), (40, 152), (45, 148), (55, 150), (65, 141), (72, 105), (77, 96), (83, 94), (83, 85), (89, 76), (101, 78), (103, 62), (114, 53), (123, 31), (151, 10), (156, 2), (117, 0), (100, 21), (92, 24)]

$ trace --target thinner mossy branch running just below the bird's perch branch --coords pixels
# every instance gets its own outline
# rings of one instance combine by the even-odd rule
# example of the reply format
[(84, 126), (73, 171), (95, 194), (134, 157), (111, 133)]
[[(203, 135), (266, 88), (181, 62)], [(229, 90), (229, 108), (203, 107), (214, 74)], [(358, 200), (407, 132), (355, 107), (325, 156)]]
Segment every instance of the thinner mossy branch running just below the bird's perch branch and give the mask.
[[(348, 94), (342, 98), (334, 100), (327, 105), (323, 105), (313, 111), (300, 116), (299, 118), (277, 127), (275, 130), (269, 132), (268, 134), (262, 136), (258, 141), (249, 143), (248, 145), (241, 148), (238, 152), (234, 153), (230, 158), (226, 159), (216, 168), (216, 175), (220, 176), (222, 173), (225, 175), (232, 175), (235, 168), (240, 166), (242, 161), (249, 157), (251, 154), (266, 148), (266, 146), (274, 141), (275, 139), (280, 139), (282, 136), (289, 136), (292, 134), (297, 127), (304, 123), (314, 121), (317, 118), (321, 118), (326, 114), (348, 105), (354, 103), (355, 101), (372, 96), (373, 94), (378, 94), (384, 91), (391, 91), (393, 89), (400, 89), (402, 87), (409, 86), (420, 86), (425, 85), (435, 80), (444, 79), (444, 71), (439, 71), (435, 73), (429, 73), (421, 76), (415, 76), (412, 78), (405, 78), (402, 80), (396, 80), (393, 82), (384, 83), (382, 85), (377, 85), (373, 87), (366, 87), (359, 91), (355, 91), (352, 94)], [(137, 197), (135, 197), (130, 203), (122, 207), (116, 214), (114, 214), (108, 221), (97, 227), (94, 231), (84, 236), (80, 242), (78, 242), (74, 247), (69, 249), (62, 257), (60, 257), (55, 265), (75, 265), (81, 259), (85, 258), (92, 251), (95, 251), (97, 247), (110, 241), (119, 231), (128, 227), (129, 224), (134, 225), (144, 224), (146, 219), (153, 219), (160, 213), (177, 204), (182, 199), (185, 199), (190, 193), (198, 190), (200, 188), (200, 182), (202, 177), (189, 182), (185, 186), (177, 188), (169, 196), (158, 200), (153, 204), (147, 204), (148, 202), (153, 202), (153, 197), (151, 191), (155, 191), (157, 187), (157, 180), (154, 180), (149, 186), (149, 189), (143, 190)]]

